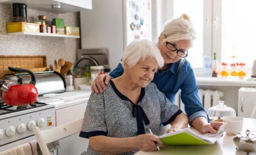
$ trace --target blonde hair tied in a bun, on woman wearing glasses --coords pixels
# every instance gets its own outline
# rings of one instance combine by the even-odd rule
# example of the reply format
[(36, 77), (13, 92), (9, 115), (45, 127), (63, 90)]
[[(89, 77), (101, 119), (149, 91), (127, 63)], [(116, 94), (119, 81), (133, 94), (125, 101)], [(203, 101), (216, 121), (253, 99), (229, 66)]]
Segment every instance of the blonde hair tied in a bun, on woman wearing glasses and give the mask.
[(161, 35), (164, 36), (165, 42), (194, 41), (196, 39), (195, 29), (187, 14), (182, 14), (177, 19), (167, 21)]

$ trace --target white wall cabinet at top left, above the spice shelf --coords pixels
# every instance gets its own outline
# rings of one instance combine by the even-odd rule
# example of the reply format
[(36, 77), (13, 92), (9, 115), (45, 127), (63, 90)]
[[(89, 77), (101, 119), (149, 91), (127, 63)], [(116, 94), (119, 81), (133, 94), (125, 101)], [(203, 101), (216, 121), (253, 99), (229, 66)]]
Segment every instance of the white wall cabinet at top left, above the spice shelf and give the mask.
[[(51, 13), (70, 13), (92, 9), (92, 0), (0, 0), (0, 3), (26, 3), (28, 8)], [(60, 8), (52, 8), (59, 5)]]

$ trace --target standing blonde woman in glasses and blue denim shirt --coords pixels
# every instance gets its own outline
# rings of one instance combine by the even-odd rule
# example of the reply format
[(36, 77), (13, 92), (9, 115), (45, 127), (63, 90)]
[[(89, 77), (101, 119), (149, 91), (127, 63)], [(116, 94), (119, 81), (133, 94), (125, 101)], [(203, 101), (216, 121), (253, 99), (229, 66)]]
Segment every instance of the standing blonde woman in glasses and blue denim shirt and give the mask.
[[(215, 134), (222, 123), (208, 123), (209, 118), (198, 96), (195, 74), (185, 59), (189, 54), (193, 54), (189, 53), (189, 49), (193, 46), (195, 38), (195, 30), (188, 15), (183, 14), (166, 23), (158, 39), (158, 48), (164, 58), (164, 66), (156, 72), (152, 83), (156, 84), (172, 103), (181, 89), (181, 99), (185, 104), (189, 123), (203, 134), (207, 132)], [(107, 85), (111, 77), (115, 78), (121, 74), (123, 67), (119, 64), (109, 75), (97, 76), (92, 85), (92, 92), (102, 93), (106, 89), (104, 83)], [(170, 130), (177, 131), (179, 128), (181, 127), (172, 125)]]

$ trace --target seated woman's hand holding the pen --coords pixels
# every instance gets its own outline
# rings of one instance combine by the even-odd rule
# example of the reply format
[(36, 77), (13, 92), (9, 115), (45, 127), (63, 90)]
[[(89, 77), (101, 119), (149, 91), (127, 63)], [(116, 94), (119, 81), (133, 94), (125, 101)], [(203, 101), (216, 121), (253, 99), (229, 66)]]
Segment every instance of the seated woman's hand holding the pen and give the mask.
[(139, 135), (136, 137), (136, 140), (139, 144), (139, 150), (146, 152), (158, 150), (154, 142), (157, 142), (158, 145), (163, 144), (162, 141), (158, 138), (158, 136), (154, 136), (152, 134)]

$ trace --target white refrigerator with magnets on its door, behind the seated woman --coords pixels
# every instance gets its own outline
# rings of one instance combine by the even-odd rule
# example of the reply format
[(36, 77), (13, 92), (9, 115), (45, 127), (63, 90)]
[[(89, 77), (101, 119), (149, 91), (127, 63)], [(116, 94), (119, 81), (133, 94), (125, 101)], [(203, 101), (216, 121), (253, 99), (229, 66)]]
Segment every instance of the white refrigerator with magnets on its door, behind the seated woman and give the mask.
[(151, 0), (93, 0), (80, 12), (82, 49), (108, 48), (111, 70), (133, 40), (152, 40)]

